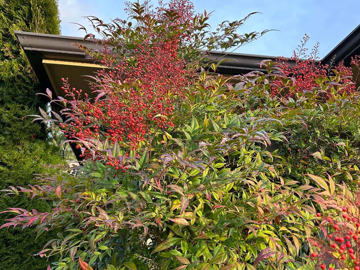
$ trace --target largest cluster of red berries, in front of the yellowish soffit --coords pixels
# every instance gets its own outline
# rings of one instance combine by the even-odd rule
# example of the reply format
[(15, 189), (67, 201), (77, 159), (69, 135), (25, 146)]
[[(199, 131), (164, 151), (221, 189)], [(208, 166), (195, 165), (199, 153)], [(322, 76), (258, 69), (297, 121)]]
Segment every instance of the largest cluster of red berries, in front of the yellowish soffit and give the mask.
[[(184, 88), (195, 75), (179, 55), (181, 42), (188, 38), (186, 31), (181, 31), (181, 24), (192, 19), (193, 8), (188, 0), (171, 1), (169, 8), (178, 13), (175, 20), (165, 23), (171, 28), (155, 31), (151, 28), (154, 26), (148, 26), (144, 40), (129, 44), (126, 57), (108, 49), (106, 39), (100, 42), (104, 47), (99, 52), (100, 62), (107, 68), (96, 72), (95, 82), (90, 84), (97, 95), (94, 102), (88, 96), (81, 100), (81, 90), (71, 88), (67, 78), (62, 79), (66, 93), (63, 101), (69, 106), (64, 112), (68, 120), (60, 126), (68, 139), (108, 139), (112, 144), (118, 142), (135, 150), (148, 139), (146, 135), (152, 128), (174, 126), (174, 103), (184, 98)], [(158, 16), (163, 16), (160, 9)], [(94, 154), (83, 150), (83, 156), (91, 158)], [(122, 169), (116, 158), (108, 158), (107, 164)]]

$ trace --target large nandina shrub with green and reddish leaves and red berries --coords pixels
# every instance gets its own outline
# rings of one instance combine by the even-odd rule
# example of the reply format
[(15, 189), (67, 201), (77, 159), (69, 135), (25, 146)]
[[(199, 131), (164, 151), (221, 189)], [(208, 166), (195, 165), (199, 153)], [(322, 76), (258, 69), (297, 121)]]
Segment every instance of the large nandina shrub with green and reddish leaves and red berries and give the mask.
[[(37, 116), (58, 124), (85, 160), (39, 175), (39, 185), (10, 187), (54, 208), (12, 208), (18, 215), (1, 227), (62, 229), (38, 253), (60, 254), (54, 269), (296, 269), (305, 240), (318, 232), (322, 182), (313, 174), (356, 175), (344, 166), (351, 161), (327, 162), (327, 155), (357, 162), (358, 140), (331, 134), (324, 149), (314, 140), (326, 121), (337, 123), (327, 127), (333, 133), (356, 132), (357, 95), (338, 94), (350, 85), (343, 74), (313, 77), (319, 86), (311, 91), (266, 60), (267, 74), (217, 76), (209, 51), (261, 33), (236, 34), (242, 20), (207, 34), (208, 14), (191, 8), (186, 1), (154, 11), (129, 4), (134, 26), (90, 18), (102, 39), (87, 37), (103, 49), (81, 49), (104, 65), (90, 85), (96, 98), (64, 78), (67, 96), (51, 102), (66, 106), (67, 120)], [(276, 80), (291, 98), (272, 95)], [(331, 96), (319, 95), (328, 89)], [(297, 161), (303, 156), (311, 160)]]

